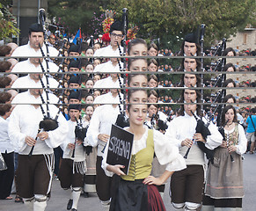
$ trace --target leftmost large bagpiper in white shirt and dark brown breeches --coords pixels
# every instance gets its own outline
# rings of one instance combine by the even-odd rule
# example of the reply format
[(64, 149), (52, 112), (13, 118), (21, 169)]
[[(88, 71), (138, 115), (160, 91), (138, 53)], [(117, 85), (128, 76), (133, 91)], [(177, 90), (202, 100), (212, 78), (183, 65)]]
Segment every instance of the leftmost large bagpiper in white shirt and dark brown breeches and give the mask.
[[(23, 198), (27, 210), (43, 211), (47, 207), (53, 177), (53, 149), (64, 141), (68, 125), (60, 115), (57, 128), (38, 133), (44, 118), (41, 108), (46, 111), (47, 106), (40, 107), (40, 89), (30, 90), (29, 94), (32, 95), (26, 98), (29, 104), (18, 105), (13, 109), (8, 133), (12, 145), (18, 150), (17, 193)], [(55, 119), (58, 111), (56, 106), (48, 105), (51, 118)], [(33, 146), (33, 155), (29, 156)]]

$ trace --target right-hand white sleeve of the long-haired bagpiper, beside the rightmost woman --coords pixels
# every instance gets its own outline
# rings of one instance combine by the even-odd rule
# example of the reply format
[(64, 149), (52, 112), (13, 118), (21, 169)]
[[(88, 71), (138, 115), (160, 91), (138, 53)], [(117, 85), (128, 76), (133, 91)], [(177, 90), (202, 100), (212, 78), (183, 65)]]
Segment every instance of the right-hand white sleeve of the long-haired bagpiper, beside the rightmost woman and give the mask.
[(210, 135), (207, 136), (205, 146), (208, 149), (216, 149), (216, 147), (222, 144), (223, 135), (221, 135), (216, 125), (214, 125), (212, 122), (210, 122), (208, 130), (210, 132)]

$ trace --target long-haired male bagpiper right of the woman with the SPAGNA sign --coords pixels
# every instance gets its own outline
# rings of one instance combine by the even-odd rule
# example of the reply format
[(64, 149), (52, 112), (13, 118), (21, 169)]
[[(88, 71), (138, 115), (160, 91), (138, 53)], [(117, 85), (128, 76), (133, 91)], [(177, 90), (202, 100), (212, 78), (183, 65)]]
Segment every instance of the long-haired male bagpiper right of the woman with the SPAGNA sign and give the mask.
[[(180, 98), (182, 102), (200, 102), (199, 92), (188, 90), (185, 94), (185, 91)], [(223, 140), (217, 127), (212, 123), (209, 124), (210, 135), (206, 139), (200, 133), (195, 133), (197, 121), (193, 113), (197, 117), (201, 116), (201, 106), (196, 104), (181, 106), (179, 117), (171, 121), (165, 133), (169, 140), (175, 140), (174, 144), (179, 147), (182, 156), (186, 154), (188, 148), (191, 148), (186, 160), (187, 169), (174, 172), (170, 183), (172, 206), (186, 211), (201, 207), (202, 200), (205, 160), (203, 152), (194, 141), (204, 142), (208, 149), (215, 149)]]

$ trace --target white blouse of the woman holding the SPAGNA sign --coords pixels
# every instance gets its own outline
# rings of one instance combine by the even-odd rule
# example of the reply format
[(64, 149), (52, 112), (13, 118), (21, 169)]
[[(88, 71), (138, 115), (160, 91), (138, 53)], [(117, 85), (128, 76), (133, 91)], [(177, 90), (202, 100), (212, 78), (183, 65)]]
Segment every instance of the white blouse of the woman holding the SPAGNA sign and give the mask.
[[(144, 127), (145, 133), (140, 140), (134, 140), (132, 147), (132, 155), (135, 155), (138, 151), (147, 147), (148, 127)], [(184, 158), (179, 154), (179, 149), (166, 139), (165, 135), (157, 130), (153, 130), (154, 151), (157, 156), (157, 160), (161, 165), (166, 164), (166, 171), (181, 171), (186, 169), (186, 163)], [(111, 177), (113, 172), (107, 171), (106, 157), (107, 157), (108, 144), (103, 155), (102, 168), (106, 172), (106, 175)]]

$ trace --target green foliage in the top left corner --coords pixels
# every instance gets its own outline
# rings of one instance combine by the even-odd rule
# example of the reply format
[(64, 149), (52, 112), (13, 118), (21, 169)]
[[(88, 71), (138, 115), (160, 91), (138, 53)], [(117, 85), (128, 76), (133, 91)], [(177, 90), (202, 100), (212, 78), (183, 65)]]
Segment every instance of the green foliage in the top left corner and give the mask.
[(17, 36), (19, 31), (15, 25), (15, 19), (12, 17), (10, 11), (0, 3), (0, 40), (10, 37), (11, 34)]

